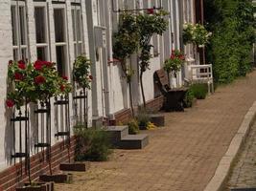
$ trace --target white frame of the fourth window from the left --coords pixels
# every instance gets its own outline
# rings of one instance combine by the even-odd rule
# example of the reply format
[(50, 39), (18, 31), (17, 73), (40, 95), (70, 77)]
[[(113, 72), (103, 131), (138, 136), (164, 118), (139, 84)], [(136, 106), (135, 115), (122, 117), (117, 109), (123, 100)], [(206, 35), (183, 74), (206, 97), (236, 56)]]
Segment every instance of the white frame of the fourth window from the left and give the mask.
[[(74, 45), (74, 54), (75, 57), (78, 57), (80, 55), (80, 53), (78, 53), (79, 47), (81, 46), (81, 54), (84, 52), (84, 47), (83, 47), (83, 23), (82, 23), (82, 15), (81, 15), (81, 5), (72, 5), (71, 6), (71, 11), (74, 11), (74, 19), (73, 19), (73, 12), (71, 12), (71, 16), (72, 16), (72, 22), (74, 21), (75, 23), (72, 23), (72, 27), (73, 27), (73, 45)], [(77, 20), (77, 13), (78, 11), (80, 11), (80, 30), (81, 30), (81, 40), (79, 40), (79, 33), (78, 33), (78, 20)], [(74, 39), (75, 38), (75, 39)]]

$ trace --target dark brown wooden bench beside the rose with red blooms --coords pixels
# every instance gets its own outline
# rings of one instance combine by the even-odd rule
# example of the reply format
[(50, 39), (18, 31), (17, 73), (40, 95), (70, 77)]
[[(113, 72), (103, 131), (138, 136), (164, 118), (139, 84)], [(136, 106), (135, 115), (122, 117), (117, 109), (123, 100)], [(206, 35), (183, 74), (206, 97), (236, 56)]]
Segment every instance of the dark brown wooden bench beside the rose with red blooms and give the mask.
[(183, 99), (188, 91), (188, 88), (183, 87), (171, 89), (167, 73), (163, 69), (155, 71), (153, 78), (160, 92), (163, 96), (165, 96), (163, 109), (167, 112), (184, 111)]

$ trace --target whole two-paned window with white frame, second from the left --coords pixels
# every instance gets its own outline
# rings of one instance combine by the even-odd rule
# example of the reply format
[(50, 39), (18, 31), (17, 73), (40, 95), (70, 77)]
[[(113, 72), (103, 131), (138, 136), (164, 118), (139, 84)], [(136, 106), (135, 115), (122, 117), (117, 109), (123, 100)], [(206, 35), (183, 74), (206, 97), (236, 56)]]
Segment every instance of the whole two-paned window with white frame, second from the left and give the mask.
[(35, 4), (35, 37), (37, 59), (49, 60), (48, 17), (46, 4)]

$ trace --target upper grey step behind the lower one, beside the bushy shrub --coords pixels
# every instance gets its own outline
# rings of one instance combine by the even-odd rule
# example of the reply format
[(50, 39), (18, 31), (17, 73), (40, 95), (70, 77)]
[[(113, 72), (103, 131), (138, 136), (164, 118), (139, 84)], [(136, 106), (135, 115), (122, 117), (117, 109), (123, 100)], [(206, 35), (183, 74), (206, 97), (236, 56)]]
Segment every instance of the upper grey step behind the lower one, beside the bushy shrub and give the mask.
[(128, 136), (128, 126), (108, 126), (105, 131), (114, 146), (118, 146), (121, 139)]

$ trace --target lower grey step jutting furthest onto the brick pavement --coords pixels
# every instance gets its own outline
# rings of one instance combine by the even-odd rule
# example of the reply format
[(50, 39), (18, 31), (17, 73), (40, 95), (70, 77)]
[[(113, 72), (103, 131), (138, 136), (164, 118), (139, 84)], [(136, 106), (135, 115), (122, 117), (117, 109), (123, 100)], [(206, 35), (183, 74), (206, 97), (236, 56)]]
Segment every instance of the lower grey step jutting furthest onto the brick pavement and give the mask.
[(149, 136), (146, 134), (128, 135), (121, 139), (121, 149), (143, 149), (149, 144)]

